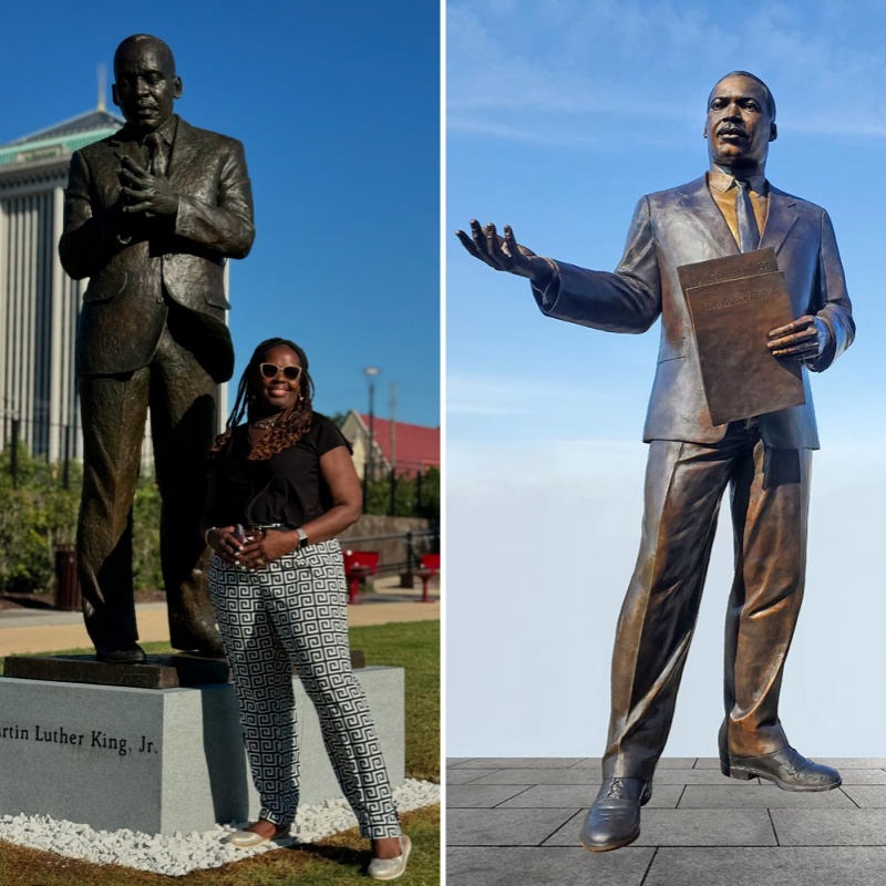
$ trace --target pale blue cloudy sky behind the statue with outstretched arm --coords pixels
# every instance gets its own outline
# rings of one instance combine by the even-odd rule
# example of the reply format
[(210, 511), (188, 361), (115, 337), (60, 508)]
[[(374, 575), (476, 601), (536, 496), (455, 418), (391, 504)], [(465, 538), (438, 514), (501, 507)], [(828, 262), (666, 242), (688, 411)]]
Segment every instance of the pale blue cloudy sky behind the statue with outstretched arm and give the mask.
[[(639, 543), (640, 442), (659, 344), (546, 319), (452, 231), (509, 223), (610, 270), (637, 199), (697, 178), (709, 90), (765, 80), (769, 178), (830, 212), (855, 346), (813, 391), (804, 610), (782, 720), (806, 754), (886, 748), (883, 352), (886, 11), (875, 2), (450, 0), (447, 752), (597, 755)], [(731, 538), (721, 523), (667, 753), (715, 755)]]

